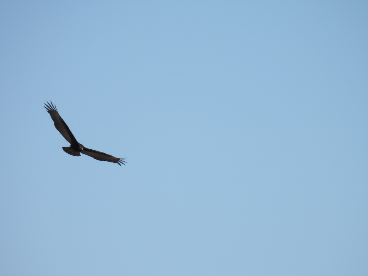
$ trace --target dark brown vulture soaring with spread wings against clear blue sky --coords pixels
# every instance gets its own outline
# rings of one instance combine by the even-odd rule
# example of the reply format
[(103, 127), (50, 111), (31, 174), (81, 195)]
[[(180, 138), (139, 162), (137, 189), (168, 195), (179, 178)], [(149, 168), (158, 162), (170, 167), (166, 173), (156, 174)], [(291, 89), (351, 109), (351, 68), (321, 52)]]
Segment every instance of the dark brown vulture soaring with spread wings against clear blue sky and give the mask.
[[(50, 104), (51, 103), (51, 104)], [(79, 144), (77, 139), (75, 139), (74, 135), (71, 133), (70, 129), (68, 128), (67, 124), (64, 122), (63, 118), (60, 117), (59, 112), (57, 112), (56, 105), (52, 103), (52, 101), (45, 103), (45, 108), (47, 112), (50, 114), (52, 120), (54, 121), (54, 125), (57, 130), (63, 135), (63, 137), (70, 143), (70, 146), (63, 146), (63, 150), (66, 153), (69, 153), (73, 156), (81, 156), (80, 152), (89, 155), (97, 160), (101, 161), (108, 161), (117, 163), (119, 166), (121, 164), (125, 165), (126, 161), (125, 158), (117, 158), (112, 155), (95, 151), (93, 149), (88, 149), (84, 145)]]

